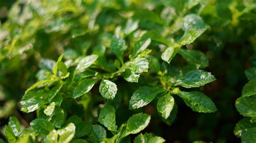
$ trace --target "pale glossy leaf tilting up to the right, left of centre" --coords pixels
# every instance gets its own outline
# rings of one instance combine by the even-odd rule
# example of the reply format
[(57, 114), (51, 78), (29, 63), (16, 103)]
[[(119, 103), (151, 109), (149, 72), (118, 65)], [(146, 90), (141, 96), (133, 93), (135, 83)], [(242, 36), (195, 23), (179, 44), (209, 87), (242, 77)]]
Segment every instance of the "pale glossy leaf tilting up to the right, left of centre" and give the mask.
[(98, 55), (88, 55), (78, 63), (76, 73), (82, 73), (86, 68), (90, 67), (96, 60)]

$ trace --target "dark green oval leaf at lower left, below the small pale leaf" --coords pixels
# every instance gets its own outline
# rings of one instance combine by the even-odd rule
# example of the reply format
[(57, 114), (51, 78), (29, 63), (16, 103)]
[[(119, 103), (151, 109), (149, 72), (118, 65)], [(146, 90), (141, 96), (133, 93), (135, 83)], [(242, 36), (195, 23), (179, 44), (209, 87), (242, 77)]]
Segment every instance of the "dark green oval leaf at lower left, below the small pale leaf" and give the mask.
[(54, 126), (50, 123), (50, 121), (45, 119), (35, 119), (30, 123), (33, 130), (35, 130), (39, 134), (49, 134), (50, 131), (54, 129)]

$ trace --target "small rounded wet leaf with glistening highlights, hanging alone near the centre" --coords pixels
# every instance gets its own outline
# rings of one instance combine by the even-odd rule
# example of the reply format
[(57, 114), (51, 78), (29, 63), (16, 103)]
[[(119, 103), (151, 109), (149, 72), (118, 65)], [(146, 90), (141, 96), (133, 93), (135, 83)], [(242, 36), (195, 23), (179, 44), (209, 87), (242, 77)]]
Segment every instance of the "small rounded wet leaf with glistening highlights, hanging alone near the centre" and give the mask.
[(117, 94), (117, 85), (109, 80), (102, 80), (99, 85), (100, 94), (107, 99), (114, 99)]

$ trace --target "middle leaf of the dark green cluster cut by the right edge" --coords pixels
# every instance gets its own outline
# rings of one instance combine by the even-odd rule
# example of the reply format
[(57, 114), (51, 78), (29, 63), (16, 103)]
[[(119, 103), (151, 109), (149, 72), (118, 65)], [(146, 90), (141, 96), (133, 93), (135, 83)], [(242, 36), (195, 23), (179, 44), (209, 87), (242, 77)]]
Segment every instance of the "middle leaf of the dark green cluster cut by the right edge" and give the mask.
[(239, 97), (235, 101), (235, 108), (245, 117), (256, 116), (256, 98), (254, 97)]

